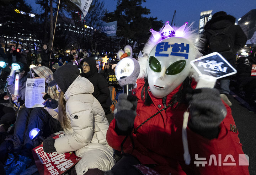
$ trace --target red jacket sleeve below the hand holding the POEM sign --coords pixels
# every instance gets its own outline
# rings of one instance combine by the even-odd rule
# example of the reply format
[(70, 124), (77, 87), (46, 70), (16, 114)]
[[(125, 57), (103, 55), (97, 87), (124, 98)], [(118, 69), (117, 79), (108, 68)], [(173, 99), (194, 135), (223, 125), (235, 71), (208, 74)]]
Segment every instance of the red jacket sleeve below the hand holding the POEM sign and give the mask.
[[(191, 164), (195, 174), (249, 174), (248, 166), (241, 165), (247, 161), (238, 131), (233, 129), (235, 121), (231, 109), (228, 105), (225, 106), (227, 115), (219, 126), (218, 138), (208, 140), (187, 128)], [(205, 166), (202, 162), (206, 163)]]

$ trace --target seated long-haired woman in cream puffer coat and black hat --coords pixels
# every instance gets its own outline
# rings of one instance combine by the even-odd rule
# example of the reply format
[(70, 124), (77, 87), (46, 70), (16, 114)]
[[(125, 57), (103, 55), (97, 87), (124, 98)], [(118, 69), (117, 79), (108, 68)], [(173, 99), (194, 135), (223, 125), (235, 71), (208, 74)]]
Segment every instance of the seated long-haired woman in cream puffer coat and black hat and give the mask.
[(113, 149), (106, 141), (109, 124), (100, 103), (91, 94), (92, 83), (79, 75), (75, 65), (60, 67), (53, 78), (50, 85), (57, 83), (60, 89), (58, 117), (66, 135), (44, 140), (44, 152), (75, 151), (82, 159), (71, 174), (104, 174), (115, 162)]

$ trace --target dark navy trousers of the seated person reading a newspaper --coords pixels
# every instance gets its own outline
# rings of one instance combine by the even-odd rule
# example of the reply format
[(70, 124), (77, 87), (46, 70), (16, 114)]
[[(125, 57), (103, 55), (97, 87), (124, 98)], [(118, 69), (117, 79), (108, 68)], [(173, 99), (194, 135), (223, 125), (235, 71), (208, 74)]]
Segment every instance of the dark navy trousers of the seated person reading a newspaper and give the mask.
[(24, 156), (31, 156), (31, 149), (40, 144), (39, 140), (32, 141), (29, 132), (33, 128), (41, 130), (41, 136), (47, 137), (61, 130), (60, 122), (54, 119), (43, 108), (22, 108), (15, 122), (14, 140), (24, 144), (14, 143), (14, 151)]

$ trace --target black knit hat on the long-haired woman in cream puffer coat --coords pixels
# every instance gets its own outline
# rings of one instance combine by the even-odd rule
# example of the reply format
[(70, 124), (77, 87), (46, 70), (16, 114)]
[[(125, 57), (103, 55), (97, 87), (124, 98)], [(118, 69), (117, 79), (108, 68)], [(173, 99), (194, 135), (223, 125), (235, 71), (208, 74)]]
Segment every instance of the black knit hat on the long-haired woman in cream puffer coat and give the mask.
[(54, 80), (49, 83), (49, 86), (58, 84), (62, 92), (65, 93), (78, 76), (79, 70), (76, 65), (61, 66), (53, 73)]

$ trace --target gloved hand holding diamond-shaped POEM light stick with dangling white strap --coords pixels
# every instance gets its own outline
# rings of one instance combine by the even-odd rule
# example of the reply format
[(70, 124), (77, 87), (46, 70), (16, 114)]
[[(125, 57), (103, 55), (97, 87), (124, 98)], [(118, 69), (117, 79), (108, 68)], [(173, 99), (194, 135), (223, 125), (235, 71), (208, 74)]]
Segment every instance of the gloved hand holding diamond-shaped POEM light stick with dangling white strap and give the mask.
[(213, 88), (218, 78), (236, 73), (234, 67), (217, 52), (192, 60), (190, 64), (198, 73), (199, 81), (196, 90), (189, 97), (190, 113), (186, 111), (183, 116), (183, 157), (187, 165), (191, 160), (186, 130), (188, 116), (191, 116), (190, 129), (208, 139), (215, 138), (218, 135), (218, 126), (226, 116), (226, 108), (220, 100), (218, 90)]

